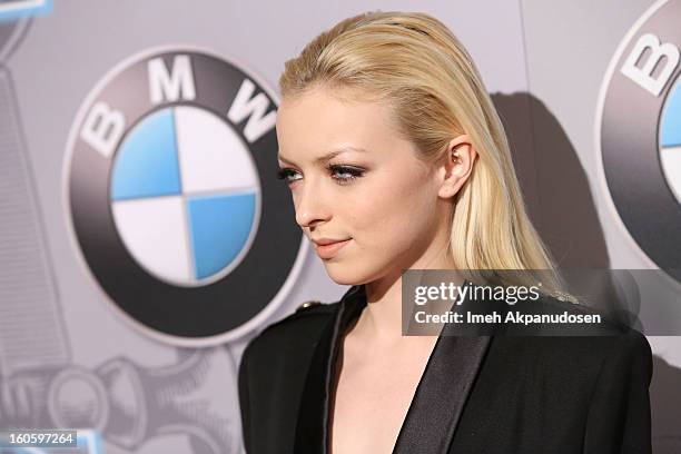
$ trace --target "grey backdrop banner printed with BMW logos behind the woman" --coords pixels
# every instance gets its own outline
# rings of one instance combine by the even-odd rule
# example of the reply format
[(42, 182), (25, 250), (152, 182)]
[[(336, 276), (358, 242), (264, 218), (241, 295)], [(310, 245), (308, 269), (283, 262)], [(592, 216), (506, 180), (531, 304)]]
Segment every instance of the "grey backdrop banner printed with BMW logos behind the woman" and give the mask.
[(667, 270), (629, 310), (658, 322), (654, 452), (681, 452), (679, 0), (0, 1), (0, 428), (243, 452), (246, 344), (347, 289), (275, 178), (277, 80), (376, 9), (467, 47), (562, 267)]

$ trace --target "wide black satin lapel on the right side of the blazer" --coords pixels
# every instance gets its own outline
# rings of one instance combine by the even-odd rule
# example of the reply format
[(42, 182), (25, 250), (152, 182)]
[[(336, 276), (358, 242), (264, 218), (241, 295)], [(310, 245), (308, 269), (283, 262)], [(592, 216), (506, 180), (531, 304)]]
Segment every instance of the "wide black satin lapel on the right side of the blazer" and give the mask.
[(395, 443), (394, 454), (445, 454), (490, 336), (440, 336)]

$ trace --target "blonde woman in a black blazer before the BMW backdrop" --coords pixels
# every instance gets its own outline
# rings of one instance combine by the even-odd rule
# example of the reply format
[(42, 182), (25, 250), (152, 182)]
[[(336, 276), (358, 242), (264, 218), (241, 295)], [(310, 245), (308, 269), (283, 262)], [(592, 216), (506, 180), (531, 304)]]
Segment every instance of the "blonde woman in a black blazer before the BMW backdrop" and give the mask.
[(352, 287), (248, 345), (249, 454), (651, 451), (651, 353), (635, 332), (402, 336), (405, 269), (554, 269), (501, 121), (443, 23), (346, 19), (286, 62), (280, 90), (279, 177), (328, 275)]

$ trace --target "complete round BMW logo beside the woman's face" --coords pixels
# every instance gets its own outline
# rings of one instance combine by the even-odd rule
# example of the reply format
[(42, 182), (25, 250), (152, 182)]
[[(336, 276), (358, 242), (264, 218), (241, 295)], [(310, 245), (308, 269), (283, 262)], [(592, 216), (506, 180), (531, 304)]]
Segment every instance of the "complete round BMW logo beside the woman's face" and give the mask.
[(147, 334), (227, 342), (290, 290), (307, 241), (275, 178), (277, 105), (241, 66), (178, 46), (121, 62), (81, 106), (67, 218), (107, 299)]

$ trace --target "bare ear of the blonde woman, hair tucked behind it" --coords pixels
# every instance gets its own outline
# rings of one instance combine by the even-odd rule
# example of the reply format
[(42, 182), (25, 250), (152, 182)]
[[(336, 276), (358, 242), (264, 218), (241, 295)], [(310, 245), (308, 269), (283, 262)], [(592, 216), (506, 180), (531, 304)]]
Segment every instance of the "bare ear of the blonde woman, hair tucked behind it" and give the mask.
[(467, 135), (457, 136), (450, 141), (441, 168), (444, 179), (437, 193), (440, 197), (450, 198), (458, 193), (468, 179), (476, 157), (477, 151)]

